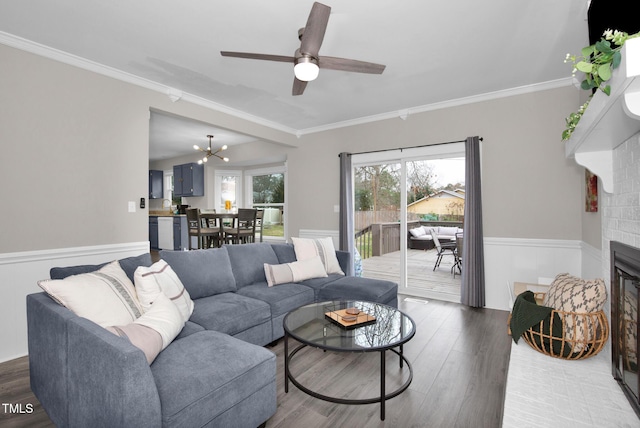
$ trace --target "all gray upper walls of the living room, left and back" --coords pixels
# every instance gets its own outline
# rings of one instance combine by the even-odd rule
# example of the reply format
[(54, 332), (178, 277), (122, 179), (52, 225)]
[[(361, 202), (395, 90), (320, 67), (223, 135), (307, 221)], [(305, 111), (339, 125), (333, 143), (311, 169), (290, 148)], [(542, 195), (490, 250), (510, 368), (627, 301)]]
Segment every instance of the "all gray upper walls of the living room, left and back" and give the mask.
[(471, 135), (484, 138), (486, 236), (579, 240), (590, 221), (583, 170), (560, 142), (579, 105), (572, 87), (298, 139), (13, 48), (0, 46), (0, 57), (0, 253), (146, 240), (147, 212), (128, 213), (127, 202), (147, 196), (149, 108), (278, 143), (256, 152), (287, 158), (291, 236), (338, 229), (338, 153)]

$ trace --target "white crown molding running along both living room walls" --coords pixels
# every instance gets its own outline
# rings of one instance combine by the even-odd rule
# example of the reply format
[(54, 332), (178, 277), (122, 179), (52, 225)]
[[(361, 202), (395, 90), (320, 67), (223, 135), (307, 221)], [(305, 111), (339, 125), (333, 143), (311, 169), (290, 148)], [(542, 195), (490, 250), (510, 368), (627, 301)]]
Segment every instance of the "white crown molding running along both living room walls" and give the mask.
[(474, 95), (471, 97), (457, 98), (454, 100), (448, 100), (448, 101), (427, 104), (427, 105), (422, 105), (417, 107), (405, 108), (402, 110), (391, 111), (391, 112), (381, 113), (381, 114), (376, 114), (371, 116), (365, 116), (365, 117), (330, 123), (330, 124), (311, 127), (311, 128), (295, 129), (295, 128), (282, 125), (280, 123), (266, 120), (258, 116), (247, 114), (243, 111), (236, 110), (226, 105), (219, 104), (193, 94), (183, 93), (176, 88), (172, 88), (170, 86), (163, 85), (158, 82), (154, 82), (139, 76), (135, 76), (133, 74), (126, 73), (124, 71), (115, 69), (113, 67), (109, 67), (107, 65), (100, 64), (95, 61), (90, 61), (86, 58), (82, 58), (77, 55), (73, 55), (58, 49), (54, 49), (49, 46), (45, 46), (40, 43), (33, 42), (31, 40), (23, 39), (13, 34), (0, 31), (0, 44), (7, 45), (7, 46), (20, 49), (26, 52), (30, 52), (36, 55), (40, 55), (45, 58), (49, 58), (55, 61), (69, 64), (78, 68), (89, 70), (94, 73), (111, 77), (123, 82), (131, 83), (133, 85), (150, 89), (152, 91), (160, 92), (168, 96), (173, 102), (176, 102), (178, 100), (187, 101), (189, 103), (196, 104), (198, 106), (201, 106), (210, 110), (225, 113), (230, 116), (234, 116), (239, 119), (243, 119), (248, 122), (255, 123), (257, 125), (265, 126), (265, 127), (278, 130), (287, 134), (292, 134), (298, 138), (301, 138), (302, 136), (307, 134), (315, 134), (318, 132), (330, 131), (330, 130), (339, 129), (339, 128), (346, 128), (349, 126), (363, 125), (367, 123), (378, 122), (381, 120), (388, 120), (388, 119), (394, 119), (394, 118), (407, 120), (410, 118), (411, 115), (414, 115), (417, 113), (424, 113), (424, 112), (433, 111), (433, 110), (440, 110), (444, 108), (456, 107), (456, 106), (461, 106), (466, 104), (474, 104), (474, 103), (479, 103), (483, 101), (495, 100), (498, 98), (506, 98), (514, 95), (522, 95), (522, 94), (527, 94), (532, 92), (544, 91), (548, 89), (557, 89), (560, 87), (573, 85), (572, 79), (568, 77), (566, 79), (552, 80), (549, 82), (543, 82), (543, 83), (538, 83), (534, 85), (520, 86), (517, 88), (511, 88), (511, 89), (505, 89), (505, 90), (496, 91), (496, 92), (490, 92), (486, 94)]

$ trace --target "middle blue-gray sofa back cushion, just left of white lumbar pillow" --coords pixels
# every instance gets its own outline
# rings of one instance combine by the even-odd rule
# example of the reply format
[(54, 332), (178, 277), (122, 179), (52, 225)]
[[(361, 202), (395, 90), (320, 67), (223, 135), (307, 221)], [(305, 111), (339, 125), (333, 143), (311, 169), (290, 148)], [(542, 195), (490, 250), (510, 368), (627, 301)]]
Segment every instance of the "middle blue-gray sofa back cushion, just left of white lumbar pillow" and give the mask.
[(238, 289), (259, 282), (265, 282), (264, 264), (278, 264), (278, 257), (271, 244), (255, 243), (243, 245), (225, 245), (229, 252), (231, 269)]

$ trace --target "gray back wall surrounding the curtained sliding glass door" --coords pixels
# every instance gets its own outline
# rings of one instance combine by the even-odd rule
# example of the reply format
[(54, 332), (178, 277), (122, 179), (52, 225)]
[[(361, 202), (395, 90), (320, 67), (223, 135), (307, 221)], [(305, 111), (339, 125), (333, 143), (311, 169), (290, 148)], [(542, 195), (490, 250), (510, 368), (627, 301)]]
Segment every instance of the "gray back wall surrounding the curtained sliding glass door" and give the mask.
[(576, 105), (578, 91), (567, 87), (304, 136), (289, 153), (289, 173), (295, 177), (289, 230), (338, 228), (333, 206), (339, 152), (479, 135), (485, 236), (580, 240), (584, 170), (565, 158), (560, 142), (564, 118)]

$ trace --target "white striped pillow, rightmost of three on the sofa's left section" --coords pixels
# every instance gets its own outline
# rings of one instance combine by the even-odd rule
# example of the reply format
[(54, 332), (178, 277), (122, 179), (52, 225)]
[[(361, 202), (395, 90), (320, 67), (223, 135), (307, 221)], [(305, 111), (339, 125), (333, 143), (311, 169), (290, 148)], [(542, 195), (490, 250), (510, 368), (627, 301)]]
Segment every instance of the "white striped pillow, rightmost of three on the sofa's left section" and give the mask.
[(193, 300), (178, 275), (164, 260), (159, 260), (149, 267), (138, 267), (133, 279), (138, 300), (145, 310), (151, 307), (151, 302), (156, 300), (158, 294), (164, 293), (178, 307), (184, 322), (191, 317)]

